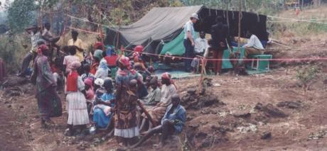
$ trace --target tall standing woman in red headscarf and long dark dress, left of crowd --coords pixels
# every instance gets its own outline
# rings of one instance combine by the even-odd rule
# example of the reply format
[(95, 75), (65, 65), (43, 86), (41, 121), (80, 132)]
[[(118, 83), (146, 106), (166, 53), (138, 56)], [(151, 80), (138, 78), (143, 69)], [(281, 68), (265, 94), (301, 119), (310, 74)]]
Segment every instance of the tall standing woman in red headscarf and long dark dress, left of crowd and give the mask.
[(36, 84), (36, 99), (38, 100), (38, 110), (41, 116), (41, 125), (45, 128), (52, 124), (51, 117), (62, 115), (60, 98), (55, 91), (57, 86), (53, 73), (51, 72), (47, 55), (50, 50), (46, 45), (38, 47), (38, 56), (35, 59), (34, 71), (31, 80)]

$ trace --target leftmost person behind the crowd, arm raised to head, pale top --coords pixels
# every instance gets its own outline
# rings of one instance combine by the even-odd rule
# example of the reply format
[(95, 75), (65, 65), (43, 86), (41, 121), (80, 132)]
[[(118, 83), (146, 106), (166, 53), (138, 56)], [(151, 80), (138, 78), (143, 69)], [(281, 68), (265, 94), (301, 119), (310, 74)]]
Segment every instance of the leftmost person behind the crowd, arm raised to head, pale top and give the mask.
[(21, 71), (17, 76), (24, 77), (27, 73), (27, 68), (30, 65), (30, 62), (36, 57), (38, 50), (38, 41), (41, 40), (40, 28), (37, 25), (32, 26), (31, 28), (26, 28), (26, 33), (31, 35), (31, 50), (26, 54), (21, 63)]

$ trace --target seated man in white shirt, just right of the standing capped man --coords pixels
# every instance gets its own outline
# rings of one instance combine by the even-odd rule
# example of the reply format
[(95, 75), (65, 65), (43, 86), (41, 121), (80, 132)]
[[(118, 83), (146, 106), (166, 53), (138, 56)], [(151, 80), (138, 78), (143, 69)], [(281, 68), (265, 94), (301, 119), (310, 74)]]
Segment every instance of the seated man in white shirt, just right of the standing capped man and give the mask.
[(205, 32), (200, 31), (200, 37), (195, 40), (194, 55), (195, 57), (192, 60), (191, 67), (193, 68), (193, 73), (198, 69), (200, 63), (200, 57), (203, 56), (205, 50), (209, 47), (208, 40), (205, 39)]

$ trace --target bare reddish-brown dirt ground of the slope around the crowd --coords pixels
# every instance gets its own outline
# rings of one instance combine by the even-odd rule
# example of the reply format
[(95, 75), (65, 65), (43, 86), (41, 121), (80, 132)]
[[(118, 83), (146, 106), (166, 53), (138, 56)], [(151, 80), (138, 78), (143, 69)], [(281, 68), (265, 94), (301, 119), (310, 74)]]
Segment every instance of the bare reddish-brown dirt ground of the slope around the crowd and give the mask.
[[(292, 49), (274, 46), (274, 58), (327, 57), (327, 40), (284, 40)], [(293, 42), (292, 42), (293, 41)], [(310, 49), (308, 49), (308, 47)], [(327, 62), (272, 62), (265, 74), (237, 76), (227, 72), (212, 79), (205, 94), (194, 94), (198, 78), (176, 80), (187, 109), (183, 133), (156, 149), (159, 135), (134, 150), (327, 150)], [(304, 92), (296, 69), (316, 65), (317, 77)], [(0, 150), (117, 150), (106, 133), (85, 138), (63, 135), (67, 113), (42, 129), (33, 85), (8, 77), (0, 91)], [(65, 108), (64, 95), (60, 94)]]

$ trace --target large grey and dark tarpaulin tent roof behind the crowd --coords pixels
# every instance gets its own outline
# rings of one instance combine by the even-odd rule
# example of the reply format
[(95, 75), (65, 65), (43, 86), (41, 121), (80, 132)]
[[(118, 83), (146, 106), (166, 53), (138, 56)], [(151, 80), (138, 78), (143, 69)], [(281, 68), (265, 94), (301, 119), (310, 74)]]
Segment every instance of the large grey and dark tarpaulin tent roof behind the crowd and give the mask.
[[(106, 43), (120, 47), (132, 48), (135, 45), (146, 46), (145, 52), (160, 53), (161, 41), (169, 42), (183, 30), (183, 25), (192, 13), (198, 13), (200, 21), (195, 30), (210, 33), (215, 18), (222, 16), (229, 25), (230, 36), (238, 35), (238, 11), (208, 9), (205, 6), (154, 8), (143, 18), (130, 26), (107, 28)], [(247, 38), (247, 30), (252, 30), (260, 40), (267, 40), (267, 16), (257, 13), (242, 12), (241, 36)]]

